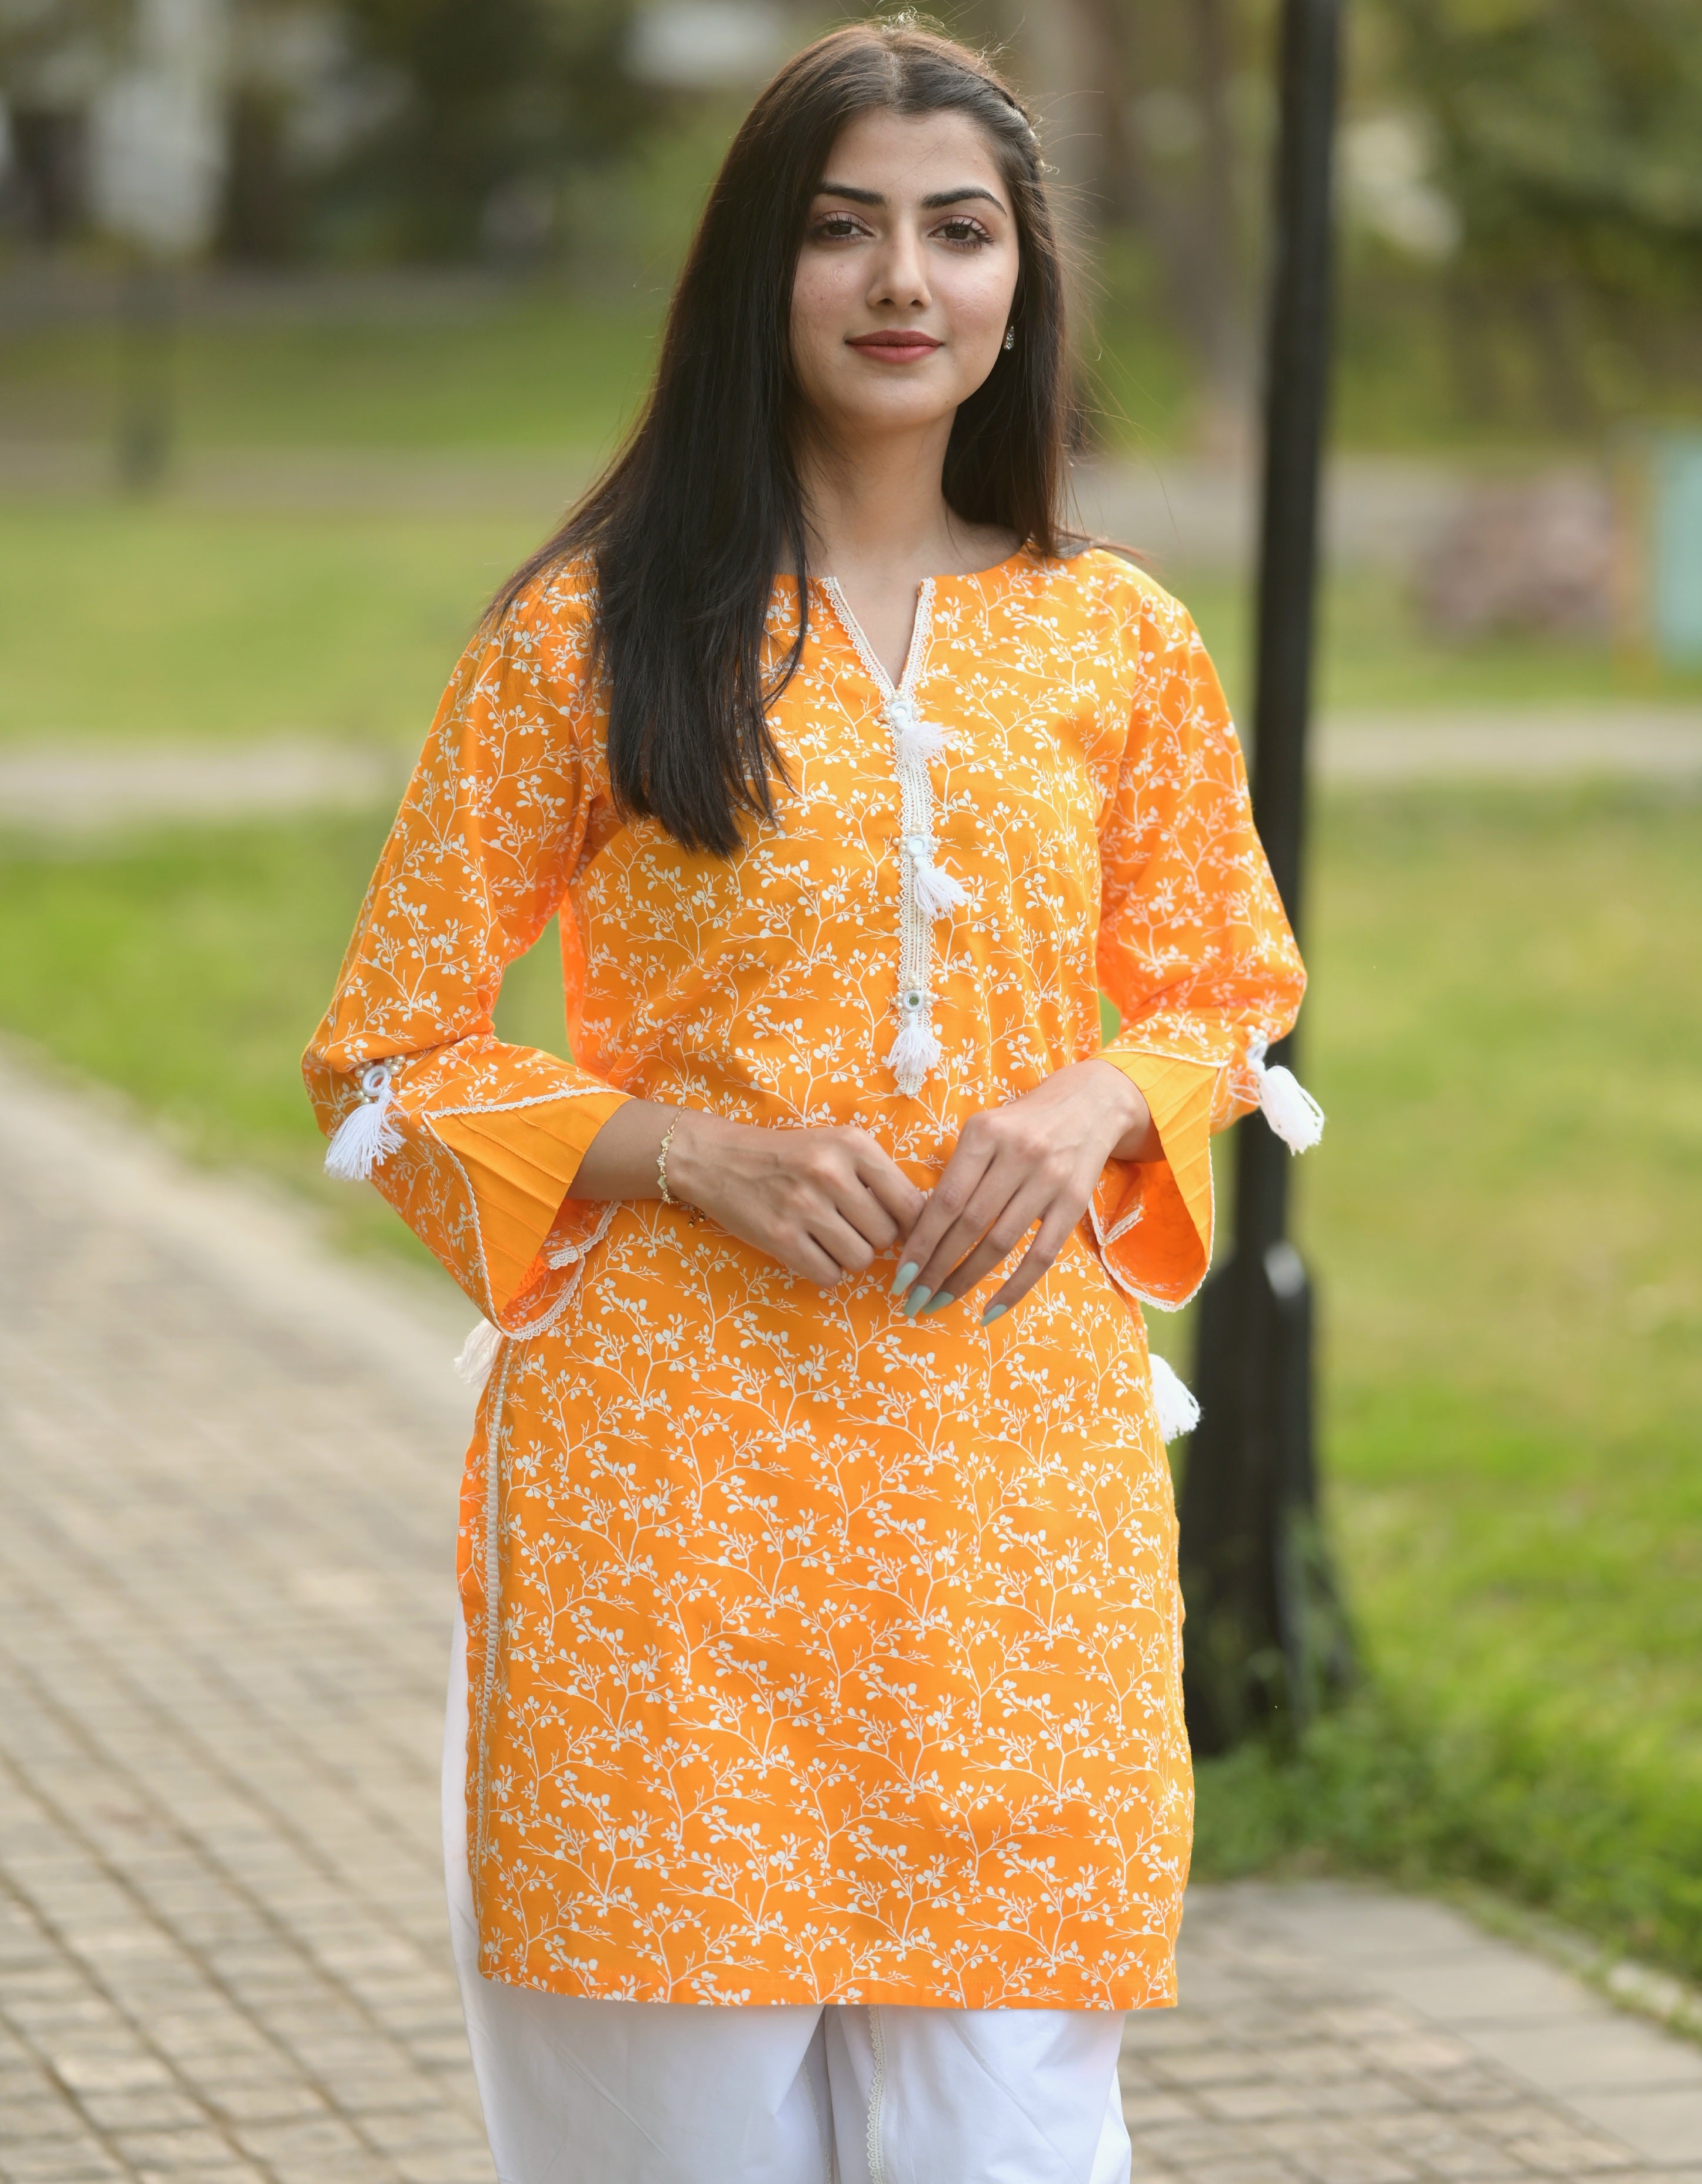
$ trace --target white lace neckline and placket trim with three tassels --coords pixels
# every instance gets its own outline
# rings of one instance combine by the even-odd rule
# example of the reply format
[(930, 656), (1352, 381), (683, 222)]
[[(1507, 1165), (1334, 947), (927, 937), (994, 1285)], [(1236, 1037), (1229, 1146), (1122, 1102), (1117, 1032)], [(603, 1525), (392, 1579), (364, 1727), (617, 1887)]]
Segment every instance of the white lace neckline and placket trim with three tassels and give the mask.
[(839, 616), (856, 657), (880, 692), (887, 729), (891, 732), (894, 767), (900, 797), (900, 893), (898, 893), (898, 1037), (887, 1051), (887, 1066), (905, 1099), (915, 1099), (924, 1079), (939, 1066), (939, 1033), (933, 1029), (933, 922), (948, 917), (970, 898), (959, 882), (939, 869), (933, 839), (933, 780), (929, 762), (946, 749), (946, 732), (937, 721), (924, 721), (915, 710), (915, 684), (926, 666), (933, 631), (933, 577), (922, 579), (915, 596), (905, 673), (894, 690), (891, 677), (874, 657), (856, 616), (850, 612), (839, 581), (828, 577), (828, 598)]

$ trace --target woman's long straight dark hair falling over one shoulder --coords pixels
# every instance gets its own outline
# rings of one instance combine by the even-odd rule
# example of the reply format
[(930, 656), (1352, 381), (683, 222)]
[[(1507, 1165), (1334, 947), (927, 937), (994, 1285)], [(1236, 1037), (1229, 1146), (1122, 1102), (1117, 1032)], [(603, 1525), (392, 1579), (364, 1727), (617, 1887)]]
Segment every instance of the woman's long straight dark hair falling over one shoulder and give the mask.
[(797, 668), (808, 594), (780, 675), (763, 684), (776, 570), (808, 568), (791, 373), (791, 293), (811, 201), (859, 114), (968, 114), (1012, 194), (1014, 347), (959, 406), (944, 491), (972, 524), (1038, 555), (1064, 537), (1071, 369), (1064, 271), (1040, 144), (1018, 96), (966, 46), (865, 22), (806, 46), (745, 116), (669, 308), (645, 413), (562, 529), (513, 572), (494, 614), (564, 559), (596, 568), (614, 799), (686, 850), (730, 856), (741, 815), (773, 819), (787, 780), (765, 708)]

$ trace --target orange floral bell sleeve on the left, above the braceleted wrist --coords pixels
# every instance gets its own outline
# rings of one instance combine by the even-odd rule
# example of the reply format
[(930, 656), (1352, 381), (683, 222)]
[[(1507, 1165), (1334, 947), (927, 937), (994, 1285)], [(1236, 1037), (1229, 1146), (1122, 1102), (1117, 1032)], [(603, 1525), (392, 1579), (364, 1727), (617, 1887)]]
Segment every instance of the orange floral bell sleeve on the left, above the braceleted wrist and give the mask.
[[(505, 970), (586, 845), (590, 684), (590, 609), (568, 577), (474, 638), (302, 1064), (328, 1171), (369, 1177), (505, 1334), (555, 1317), (614, 1212), (570, 1190), (627, 1094), (492, 1029)], [(577, 959), (564, 950), (570, 978)]]

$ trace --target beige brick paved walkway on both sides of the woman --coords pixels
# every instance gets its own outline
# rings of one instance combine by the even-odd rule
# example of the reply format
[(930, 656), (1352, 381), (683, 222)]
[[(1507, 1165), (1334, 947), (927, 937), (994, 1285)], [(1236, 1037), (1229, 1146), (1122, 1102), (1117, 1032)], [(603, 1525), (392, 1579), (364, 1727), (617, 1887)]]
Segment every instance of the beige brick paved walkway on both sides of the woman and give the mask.
[[(0, 2177), (489, 2184), (435, 1780), (465, 1310), (4, 1061), (0, 1232)], [(1195, 1891), (1184, 1996), (1130, 2031), (1143, 2184), (1702, 2184), (1702, 2053), (1431, 1904)]]

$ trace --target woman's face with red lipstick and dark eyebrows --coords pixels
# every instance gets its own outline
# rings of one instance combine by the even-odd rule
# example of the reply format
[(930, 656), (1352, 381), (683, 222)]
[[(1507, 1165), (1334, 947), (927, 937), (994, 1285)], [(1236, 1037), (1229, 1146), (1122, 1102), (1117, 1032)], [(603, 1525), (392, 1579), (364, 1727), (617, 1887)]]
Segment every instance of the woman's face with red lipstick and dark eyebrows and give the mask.
[(1016, 218), (968, 114), (861, 114), (828, 155), (791, 293), (797, 387), (830, 441), (948, 422), (998, 363)]

